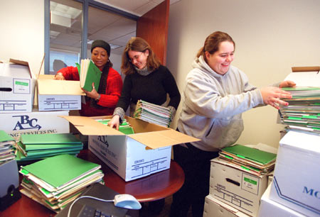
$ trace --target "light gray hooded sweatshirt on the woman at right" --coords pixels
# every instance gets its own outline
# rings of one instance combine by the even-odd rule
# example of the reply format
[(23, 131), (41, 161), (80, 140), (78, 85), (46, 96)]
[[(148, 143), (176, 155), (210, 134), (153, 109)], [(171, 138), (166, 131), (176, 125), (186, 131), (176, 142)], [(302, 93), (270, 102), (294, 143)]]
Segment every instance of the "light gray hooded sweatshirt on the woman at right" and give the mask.
[(186, 77), (178, 130), (201, 139), (191, 143), (201, 150), (218, 151), (233, 145), (244, 128), (242, 112), (263, 105), (260, 90), (232, 65), (221, 75), (201, 55), (192, 67)]

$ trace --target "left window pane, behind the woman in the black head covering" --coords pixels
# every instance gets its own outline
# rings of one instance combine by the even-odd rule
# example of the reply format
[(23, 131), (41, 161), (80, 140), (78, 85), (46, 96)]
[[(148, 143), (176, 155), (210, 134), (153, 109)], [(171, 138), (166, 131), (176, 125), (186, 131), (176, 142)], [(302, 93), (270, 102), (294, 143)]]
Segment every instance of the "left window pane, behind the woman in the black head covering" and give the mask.
[(50, 74), (80, 62), (82, 4), (73, 0), (50, 1)]

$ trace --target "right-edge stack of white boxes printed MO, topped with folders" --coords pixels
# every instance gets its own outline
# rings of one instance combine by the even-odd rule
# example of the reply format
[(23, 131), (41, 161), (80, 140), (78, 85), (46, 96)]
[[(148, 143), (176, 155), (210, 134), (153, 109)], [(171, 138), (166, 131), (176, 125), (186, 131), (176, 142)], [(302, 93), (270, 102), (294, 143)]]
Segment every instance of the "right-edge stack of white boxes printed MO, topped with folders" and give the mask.
[(279, 142), (270, 193), (262, 200), (260, 216), (270, 216), (270, 212), (320, 216), (319, 70), (293, 67), (285, 79), (297, 84), (295, 91), (302, 90), (282, 109), (282, 122), (290, 123)]

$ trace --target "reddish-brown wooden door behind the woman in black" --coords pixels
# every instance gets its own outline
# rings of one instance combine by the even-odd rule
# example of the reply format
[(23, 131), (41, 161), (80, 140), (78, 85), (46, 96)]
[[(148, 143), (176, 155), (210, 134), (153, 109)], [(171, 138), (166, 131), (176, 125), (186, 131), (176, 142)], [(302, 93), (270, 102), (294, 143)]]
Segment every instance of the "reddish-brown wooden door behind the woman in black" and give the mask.
[(137, 37), (144, 38), (149, 43), (162, 65), (166, 65), (169, 6), (170, 0), (165, 0), (137, 21)]

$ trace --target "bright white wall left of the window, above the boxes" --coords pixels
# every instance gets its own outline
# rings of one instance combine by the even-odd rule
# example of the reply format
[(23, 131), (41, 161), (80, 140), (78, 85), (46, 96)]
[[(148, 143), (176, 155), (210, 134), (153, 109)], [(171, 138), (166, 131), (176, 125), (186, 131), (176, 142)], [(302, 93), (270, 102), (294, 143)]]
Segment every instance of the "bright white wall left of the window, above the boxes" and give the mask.
[(1, 1), (0, 23), (0, 60), (28, 61), (37, 74), (44, 55), (44, 1)]

